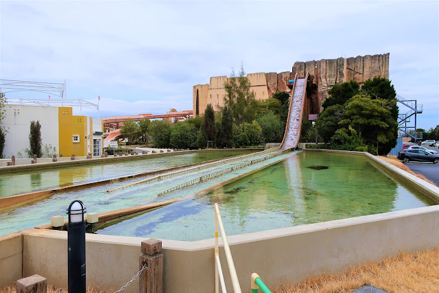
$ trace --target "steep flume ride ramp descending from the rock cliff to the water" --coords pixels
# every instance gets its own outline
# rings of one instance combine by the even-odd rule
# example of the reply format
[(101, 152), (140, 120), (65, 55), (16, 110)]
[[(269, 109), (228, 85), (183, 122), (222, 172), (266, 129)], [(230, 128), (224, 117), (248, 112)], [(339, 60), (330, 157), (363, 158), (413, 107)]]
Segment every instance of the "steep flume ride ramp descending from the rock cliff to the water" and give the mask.
[(281, 143), (281, 150), (295, 149), (299, 142), (300, 128), (302, 127), (302, 113), (307, 93), (308, 73), (305, 78), (296, 78), (289, 104), (287, 127)]

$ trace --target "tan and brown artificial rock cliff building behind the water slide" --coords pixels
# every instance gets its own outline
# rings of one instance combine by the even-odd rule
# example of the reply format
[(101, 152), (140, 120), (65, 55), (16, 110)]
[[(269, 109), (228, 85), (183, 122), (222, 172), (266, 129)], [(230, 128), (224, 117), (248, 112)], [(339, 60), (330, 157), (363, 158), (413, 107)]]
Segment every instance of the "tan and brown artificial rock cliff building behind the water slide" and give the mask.
[[(389, 78), (389, 53), (379, 55), (366, 55), (351, 58), (322, 59), (307, 62), (295, 62), (292, 71), (281, 73), (248, 73), (250, 89), (256, 99), (268, 99), (276, 91), (291, 92), (289, 80), (294, 80), (298, 73), (299, 77), (311, 75), (313, 85), (316, 86), (316, 94), (310, 97), (314, 99), (310, 113), (320, 113), (324, 99), (328, 97), (328, 90), (334, 84), (355, 80), (362, 84), (365, 80), (375, 77)], [(211, 104), (215, 111), (224, 106), (226, 90), (224, 84), (230, 78), (226, 75), (212, 77), (209, 84), (197, 84), (193, 86), (193, 115), (202, 115), (207, 104)]]

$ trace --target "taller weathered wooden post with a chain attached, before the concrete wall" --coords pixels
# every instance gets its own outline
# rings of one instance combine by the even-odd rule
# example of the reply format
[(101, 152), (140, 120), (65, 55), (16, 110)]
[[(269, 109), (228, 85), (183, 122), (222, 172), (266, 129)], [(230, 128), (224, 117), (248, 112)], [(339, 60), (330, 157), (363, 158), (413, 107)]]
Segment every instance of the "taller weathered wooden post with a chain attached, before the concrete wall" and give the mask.
[(163, 293), (163, 253), (162, 242), (157, 239), (147, 239), (142, 242), (142, 253), (139, 259), (139, 269), (146, 264), (147, 269), (140, 275), (140, 293)]

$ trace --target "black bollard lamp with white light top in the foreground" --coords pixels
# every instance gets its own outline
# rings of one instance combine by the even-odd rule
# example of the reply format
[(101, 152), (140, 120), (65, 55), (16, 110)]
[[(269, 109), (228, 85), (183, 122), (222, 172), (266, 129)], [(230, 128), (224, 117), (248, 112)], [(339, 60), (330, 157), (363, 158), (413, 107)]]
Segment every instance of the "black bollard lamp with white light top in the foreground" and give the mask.
[(85, 293), (85, 221), (86, 208), (80, 200), (73, 200), (67, 209), (69, 226), (67, 246), (69, 246), (69, 293)]

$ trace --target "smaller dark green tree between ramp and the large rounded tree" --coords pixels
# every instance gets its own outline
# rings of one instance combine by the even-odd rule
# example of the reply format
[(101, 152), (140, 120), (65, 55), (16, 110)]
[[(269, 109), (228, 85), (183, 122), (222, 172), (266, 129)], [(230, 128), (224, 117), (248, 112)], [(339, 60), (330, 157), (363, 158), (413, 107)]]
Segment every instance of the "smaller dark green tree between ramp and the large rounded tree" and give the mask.
[(318, 115), (316, 127), (318, 134), (325, 143), (331, 142), (331, 137), (333, 137), (335, 131), (340, 128), (338, 123), (342, 121), (343, 115), (344, 108), (340, 104), (329, 106)]

